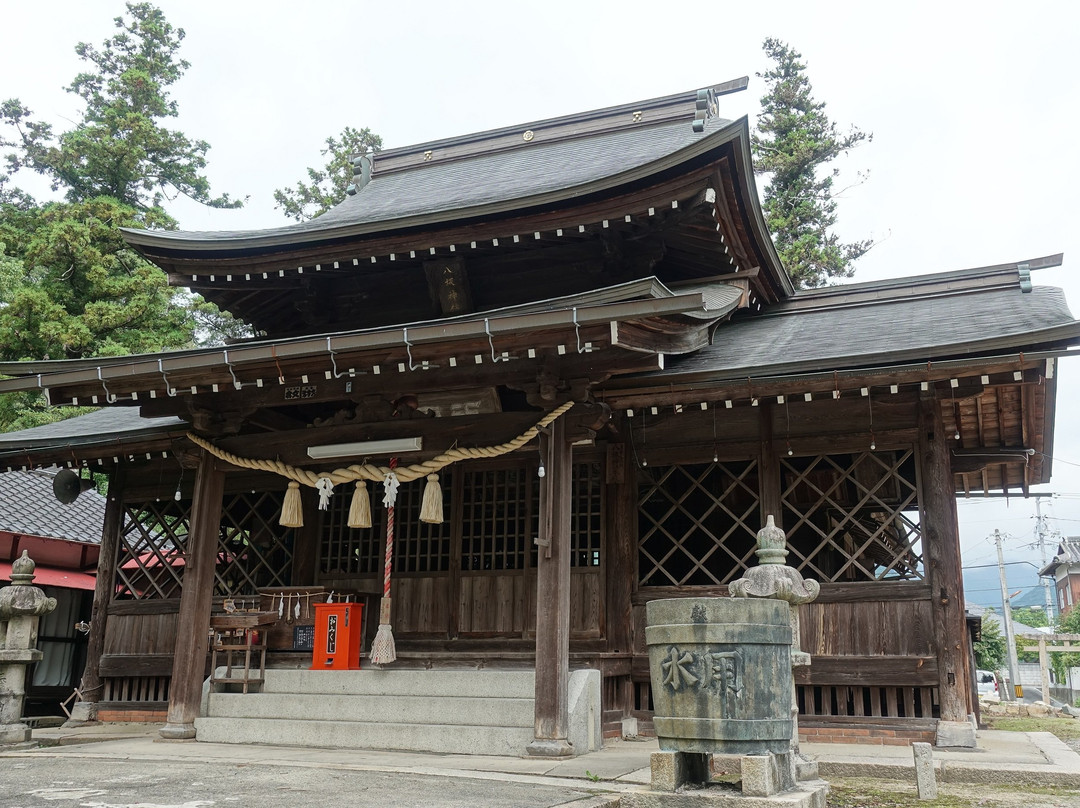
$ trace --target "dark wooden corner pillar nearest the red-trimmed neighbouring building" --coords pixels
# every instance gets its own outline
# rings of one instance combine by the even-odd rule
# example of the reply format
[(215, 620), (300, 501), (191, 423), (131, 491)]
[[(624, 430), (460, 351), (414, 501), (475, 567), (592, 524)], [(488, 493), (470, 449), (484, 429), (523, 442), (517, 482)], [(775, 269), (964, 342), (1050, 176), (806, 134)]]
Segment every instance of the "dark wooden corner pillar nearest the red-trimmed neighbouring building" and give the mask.
[(109, 494), (105, 502), (105, 524), (97, 555), (97, 579), (94, 583), (94, 602), (90, 609), (90, 635), (86, 639), (86, 666), (79, 686), (80, 701), (71, 711), (72, 721), (95, 721), (97, 702), (102, 700), (102, 654), (105, 650), (105, 630), (109, 619), (109, 602), (117, 577), (117, 552), (120, 531), (124, 527), (123, 490), (125, 470), (117, 466), (109, 475)]

